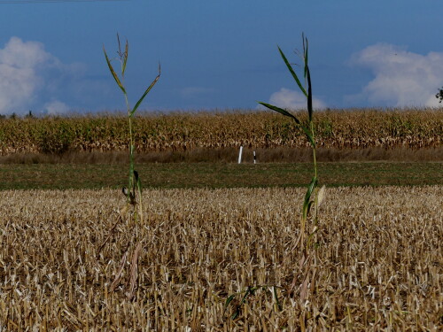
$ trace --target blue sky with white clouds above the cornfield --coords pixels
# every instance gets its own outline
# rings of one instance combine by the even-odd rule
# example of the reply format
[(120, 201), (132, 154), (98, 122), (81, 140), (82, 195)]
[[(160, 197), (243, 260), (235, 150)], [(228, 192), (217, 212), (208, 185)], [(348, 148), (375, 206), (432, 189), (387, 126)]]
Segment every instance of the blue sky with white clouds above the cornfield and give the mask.
[[(441, 0), (0, 1), (0, 113), (124, 109), (102, 46), (128, 38), (129, 100), (144, 110), (299, 108), (291, 62), (309, 39), (317, 108), (436, 106)], [(118, 66), (118, 63), (114, 63)]]

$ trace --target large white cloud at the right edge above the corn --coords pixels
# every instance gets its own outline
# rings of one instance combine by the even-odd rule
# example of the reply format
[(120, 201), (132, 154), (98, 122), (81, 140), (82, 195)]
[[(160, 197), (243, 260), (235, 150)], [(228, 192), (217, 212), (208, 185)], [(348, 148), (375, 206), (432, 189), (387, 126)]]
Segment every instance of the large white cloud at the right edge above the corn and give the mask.
[(375, 78), (349, 100), (387, 106), (438, 106), (443, 85), (443, 52), (421, 55), (387, 43), (377, 43), (354, 54), (354, 66), (364, 66)]

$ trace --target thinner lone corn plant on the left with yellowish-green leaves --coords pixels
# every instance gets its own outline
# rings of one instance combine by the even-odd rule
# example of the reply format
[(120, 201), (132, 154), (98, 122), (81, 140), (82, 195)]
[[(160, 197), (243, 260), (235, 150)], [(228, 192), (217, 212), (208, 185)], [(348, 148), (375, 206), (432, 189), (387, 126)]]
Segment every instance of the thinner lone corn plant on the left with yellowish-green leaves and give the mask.
[[(142, 104), (144, 97), (151, 91), (155, 83), (159, 81), (160, 77), (160, 66), (159, 66), (159, 74), (157, 77), (152, 81), (151, 85), (144, 91), (144, 94), (142, 97), (138, 99), (136, 102), (136, 105), (131, 108), (129, 106), (128, 102), (128, 94), (125, 88), (125, 71), (126, 71), (126, 64), (128, 62), (128, 40), (125, 43), (125, 50), (121, 50), (120, 45), (120, 37), (117, 34), (117, 42), (119, 44), (119, 50), (117, 51), (117, 54), (119, 56), (118, 60), (120, 61), (120, 73), (121, 78), (115, 73), (115, 70), (113, 68), (113, 65), (111, 64), (111, 60), (108, 58), (108, 55), (105, 50), (105, 46), (103, 46), (103, 52), (105, 53), (105, 59), (106, 63), (109, 67), (109, 71), (113, 74), (113, 78), (117, 85), (119, 86), (120, 90), (123, 92), (123, 95), (125, 97), (125, 103), (126, 108), (128, 111), (128, 126), (129, 126), (129, 179), (128, 179), (128, 189), (123, 188), (123, 193), (128, 197), (128, 204), (133, 205), (134, 207), (138, 205), (138, 215), (140, 217), (140, 220), (143, 220), (143, 205), (142, 205), (142, 182), (140, 180), (140, 177), (138, 176), (138, 173), (136, 170), (134, 170), (134, 151), (135, 151), (135, 144), (134, 144), (134, 135), (132, 130), (132, 121), (134, 120), (134, 114), (136, 113), (136, 110), (138, 109), (138, 106)], [(138, 194), (138, 202), (136, 201), (136, 193)], [(135, 213), (137, 215), (137, 213)]]

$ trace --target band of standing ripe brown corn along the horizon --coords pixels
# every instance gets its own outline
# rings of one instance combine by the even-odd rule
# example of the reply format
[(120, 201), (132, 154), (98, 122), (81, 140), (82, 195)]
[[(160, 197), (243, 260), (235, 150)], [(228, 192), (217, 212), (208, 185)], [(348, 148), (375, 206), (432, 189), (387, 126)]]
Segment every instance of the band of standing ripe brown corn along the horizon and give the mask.
[[(296, 112), (302, 123), (305, 112)], [(0, 154), (126, 151), (126, 118), (117, 115), (0, 120)], [(175, 112), (138, 116), (136, 151), (190, 151), (243, 145), (305, 148), (303, 132), (270, 112)], [(332, 110), (315, 112), (319, 148), (435, 148), (441, 146), (443, 110)]]

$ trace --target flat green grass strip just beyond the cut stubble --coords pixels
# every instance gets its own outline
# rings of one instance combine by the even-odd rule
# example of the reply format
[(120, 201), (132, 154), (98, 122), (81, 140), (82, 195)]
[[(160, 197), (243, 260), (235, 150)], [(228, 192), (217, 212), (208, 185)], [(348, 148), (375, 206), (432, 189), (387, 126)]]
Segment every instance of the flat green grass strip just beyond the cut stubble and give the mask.
[[(319, 163), (327, 186), (443, 185), (443, 163)], [(309, 163), (167, 163), (139, 164), (144, 187), (237, 188), (300, 187), (312, 176)], [(19, 164), (0, 165), (0, 189), (119, 189), (128, 181), (128, 166)]]

